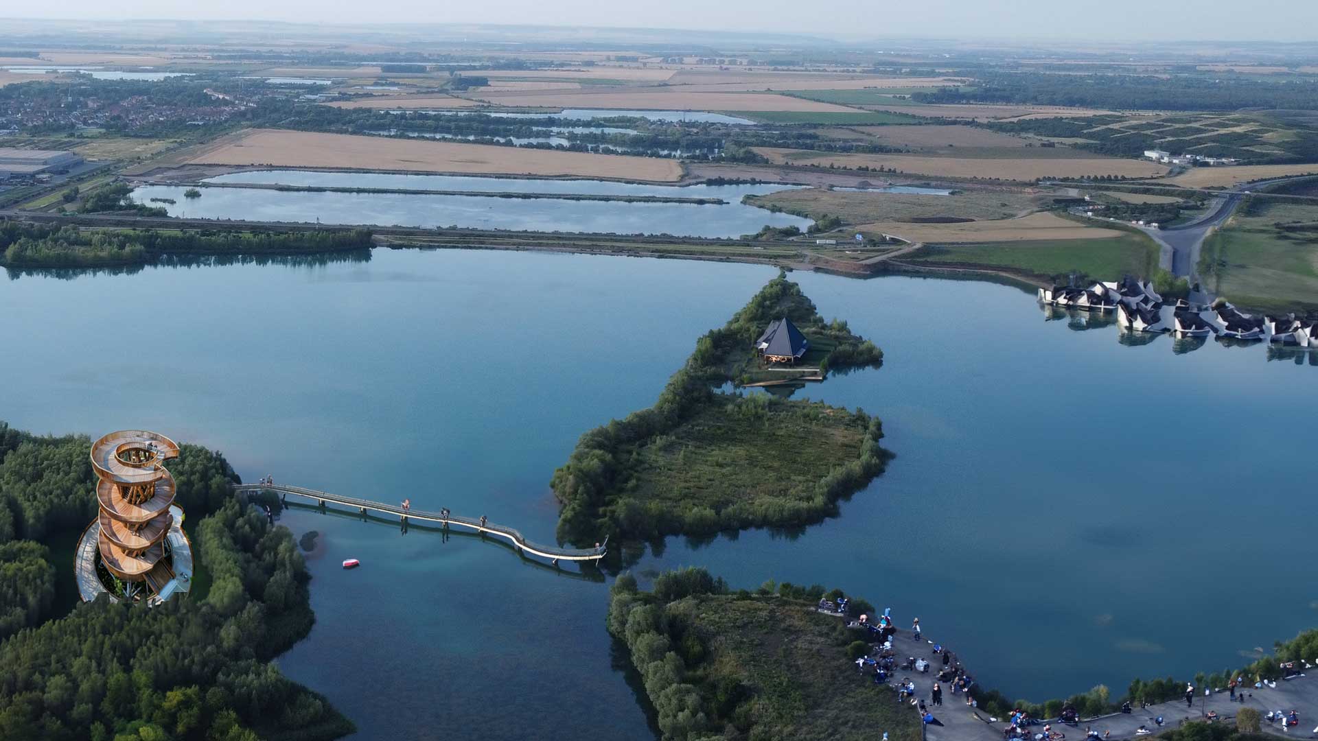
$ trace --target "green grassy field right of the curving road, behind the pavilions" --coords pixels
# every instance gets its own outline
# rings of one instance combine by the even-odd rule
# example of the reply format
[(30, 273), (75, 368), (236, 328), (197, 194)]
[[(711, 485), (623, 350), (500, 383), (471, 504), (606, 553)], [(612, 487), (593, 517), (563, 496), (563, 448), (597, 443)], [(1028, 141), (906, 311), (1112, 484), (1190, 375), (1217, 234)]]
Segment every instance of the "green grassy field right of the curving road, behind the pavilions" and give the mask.
[(1318, 207), (1249, 202), (1205, 241), (1198, 269), (1240, 306), (1318, 311)]

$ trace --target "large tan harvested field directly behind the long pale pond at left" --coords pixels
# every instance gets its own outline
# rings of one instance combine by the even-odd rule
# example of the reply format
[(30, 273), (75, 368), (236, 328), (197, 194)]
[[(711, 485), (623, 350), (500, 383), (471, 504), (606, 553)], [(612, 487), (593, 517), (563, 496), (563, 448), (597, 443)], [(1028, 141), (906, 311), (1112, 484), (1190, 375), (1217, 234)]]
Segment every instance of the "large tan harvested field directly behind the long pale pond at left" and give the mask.
[(681, 178), (673, 160), (552, 152), (449, 141), (398, 140), (376, 136), (252, 129), (228, 137), (187, 160), (188, 165), (272, 165), (402, 170), (416, 173), (481, 173), (501, 175), (589, 177), (671, 182)]

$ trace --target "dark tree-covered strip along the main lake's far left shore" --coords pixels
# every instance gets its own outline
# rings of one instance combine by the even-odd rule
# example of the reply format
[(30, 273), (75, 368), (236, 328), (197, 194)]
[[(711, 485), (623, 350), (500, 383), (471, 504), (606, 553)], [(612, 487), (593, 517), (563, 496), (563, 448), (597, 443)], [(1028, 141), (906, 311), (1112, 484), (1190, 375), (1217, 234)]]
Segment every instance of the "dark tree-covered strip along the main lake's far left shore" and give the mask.
[(100, 229), (0, 223), (0, 266), (146, 265), (178, 254), (322, 254), (372, 245), (369, 229)]

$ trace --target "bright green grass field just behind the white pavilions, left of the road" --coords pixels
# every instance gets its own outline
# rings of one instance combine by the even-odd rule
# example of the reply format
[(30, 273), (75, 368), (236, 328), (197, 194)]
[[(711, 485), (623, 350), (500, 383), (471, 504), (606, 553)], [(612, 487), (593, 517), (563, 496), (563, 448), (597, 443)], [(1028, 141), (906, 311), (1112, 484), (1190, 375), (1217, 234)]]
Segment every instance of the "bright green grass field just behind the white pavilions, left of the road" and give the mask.
[(931, 266), (967, 266), (1024, 274), (1049, 282), (1070, 273), (1093, 280), (1149, 277), (1159, 251), (1143, 235), (1116, 232), (1101, 239), (1037, 239), (991, 244), (925, 247), (904, 261)]

